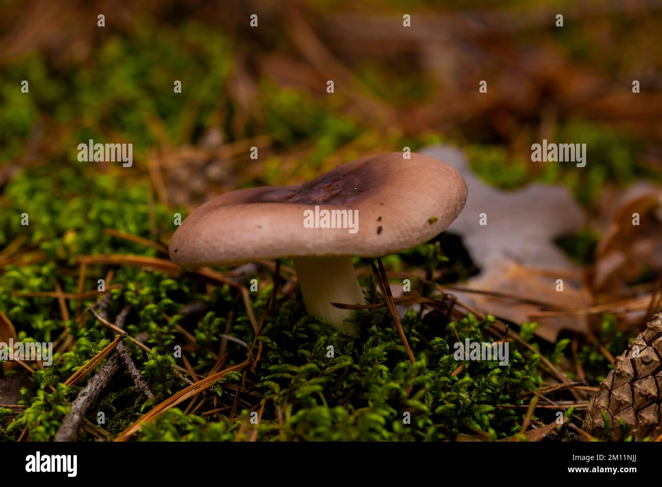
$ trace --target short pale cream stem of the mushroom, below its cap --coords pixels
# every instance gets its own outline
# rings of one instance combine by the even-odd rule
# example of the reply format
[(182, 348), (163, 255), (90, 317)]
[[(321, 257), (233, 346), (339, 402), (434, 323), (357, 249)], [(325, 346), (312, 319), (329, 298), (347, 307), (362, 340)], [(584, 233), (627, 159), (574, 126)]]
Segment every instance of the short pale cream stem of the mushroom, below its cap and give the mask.
[(363, 291), (354, 274), (351, 256), (294, 257), (297, 280), (308, 314), (330, 321), (340, 333), (358, 337), (356, 323), (343, 321), (352, 309), (340, 309), (331, 303), (363, 304)]

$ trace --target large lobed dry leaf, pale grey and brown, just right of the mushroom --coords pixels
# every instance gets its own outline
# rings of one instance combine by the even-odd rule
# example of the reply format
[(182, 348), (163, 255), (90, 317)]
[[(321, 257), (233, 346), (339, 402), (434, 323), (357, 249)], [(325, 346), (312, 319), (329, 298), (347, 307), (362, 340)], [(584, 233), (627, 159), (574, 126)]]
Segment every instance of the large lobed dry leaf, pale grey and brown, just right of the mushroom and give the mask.
[[(581, 309), (591, 304), (582, 269), (553, 243), (555, 237), (579, 229), (586, 220), (570, 191), (540, 184), (501, 191), (481, 182), (456, 148), (436, 146), (422, 152), (453, 166), (469, 188), (467, 205), (448, 230), (461, 235), (471, 258), (481, 267), (481, 273), (466, 287), (487, 294), (453, 294), (514, 323), (536, 321), (536, 334), (545, 340), (555, 341), (562, 329), (587, 333), (588, 320), (581, 313), (537, 315), (549, 309)], [(487, 225), (480, 225), (481, 213), (487, 214)], [(563, 280), (563, 292), (557, 291), (559, 279)]]

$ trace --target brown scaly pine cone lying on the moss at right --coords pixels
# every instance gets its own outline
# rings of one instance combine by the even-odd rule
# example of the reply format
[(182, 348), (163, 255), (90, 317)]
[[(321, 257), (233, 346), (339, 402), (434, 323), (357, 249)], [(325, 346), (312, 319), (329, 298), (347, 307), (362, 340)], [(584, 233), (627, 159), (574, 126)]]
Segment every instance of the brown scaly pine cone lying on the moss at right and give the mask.
[(646, 330), (616, 358), (614, 370), (600, 382), (598, 394), (589, 404), (584, 429), (600, 439), (604, 434), (604, 411), (610, 427), (608, 439), (617, 441), (626, 425), (625, 436), (636, 441), (662, 434), (662, 313), (653, 316)]

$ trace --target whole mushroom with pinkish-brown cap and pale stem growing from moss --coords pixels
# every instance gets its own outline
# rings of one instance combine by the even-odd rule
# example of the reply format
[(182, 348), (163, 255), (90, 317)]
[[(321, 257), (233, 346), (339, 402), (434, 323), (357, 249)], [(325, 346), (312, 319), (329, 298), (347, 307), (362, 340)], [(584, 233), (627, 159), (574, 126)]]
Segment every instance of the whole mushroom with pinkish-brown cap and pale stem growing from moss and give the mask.
[(357, 337), (362, 304), (352, 256), (378, 257), (435, 237), (467, 199), (460, 174), (428, 156), (402, 152), (357, 159), (301, 186), (239, 189), (195, 209), (175, 231), (179, 266), (232, 265), (291, 256), (308, 313)]

